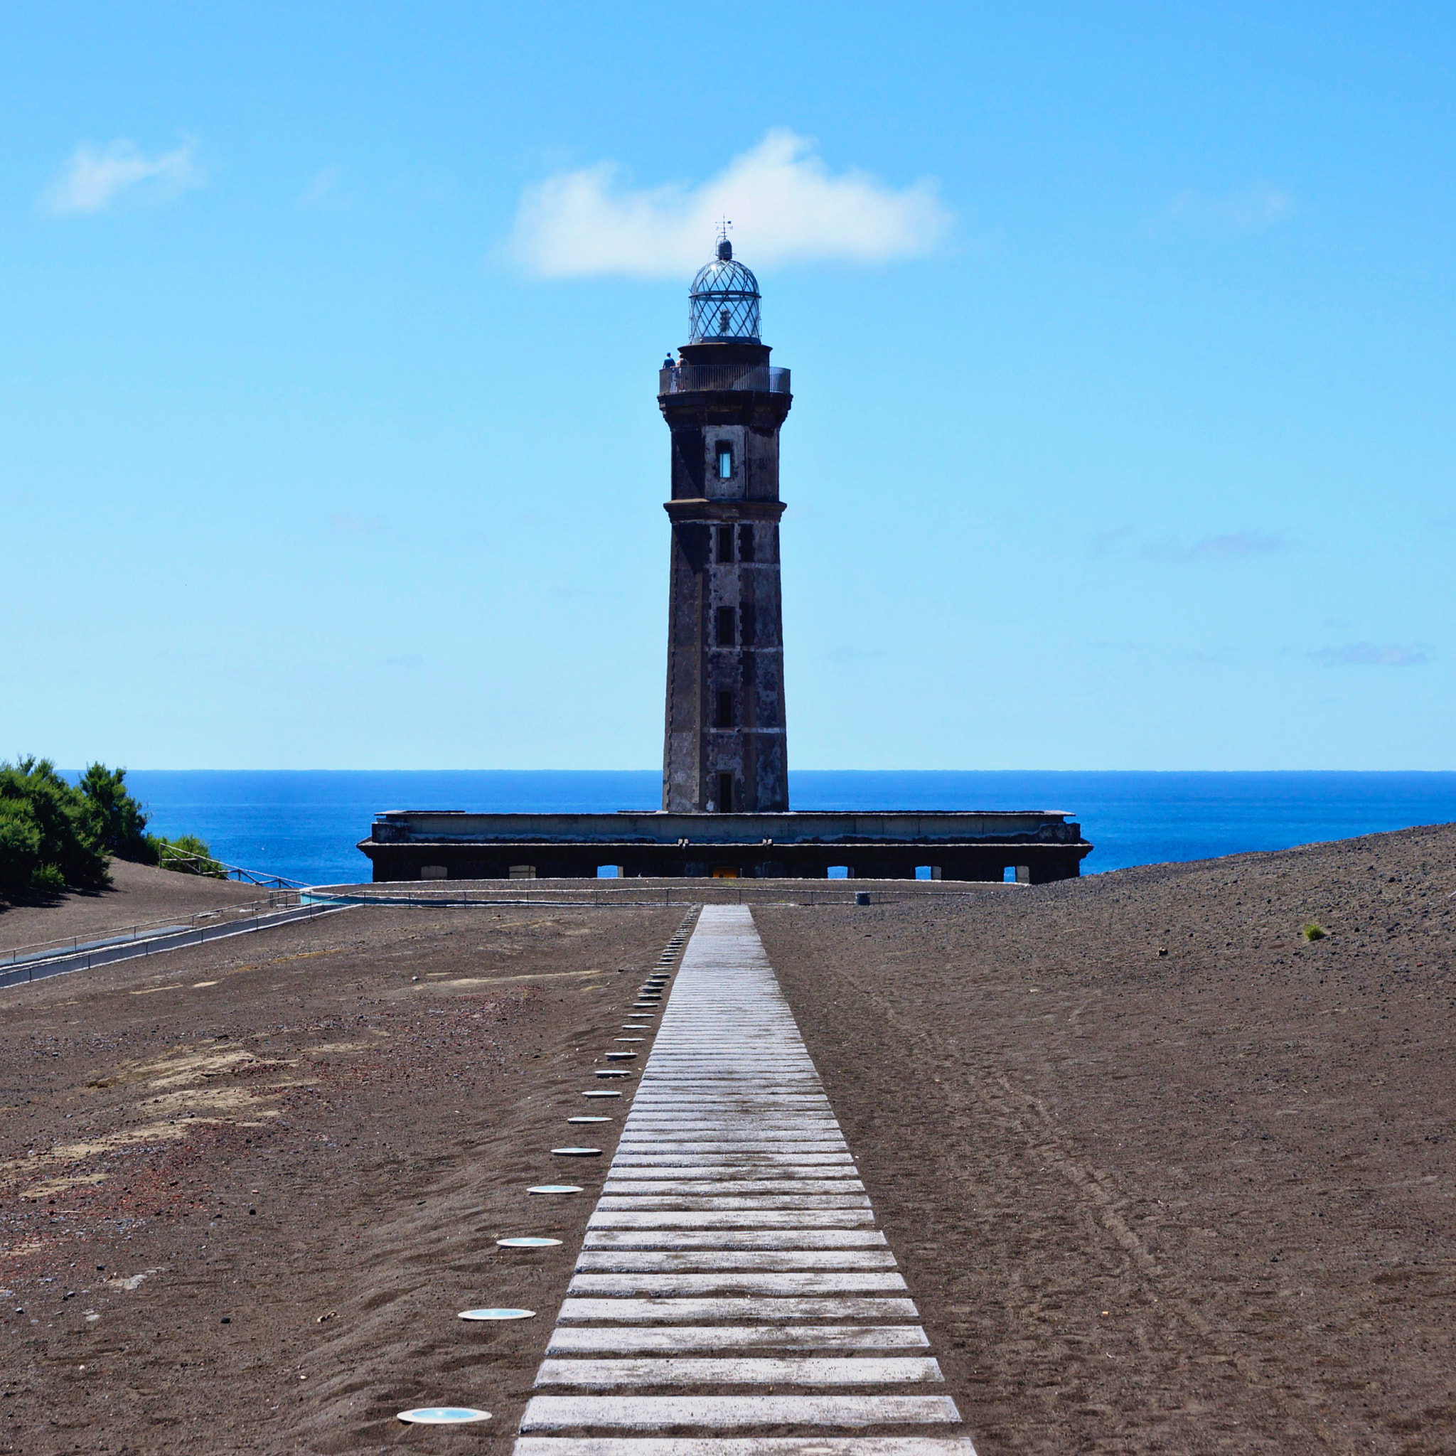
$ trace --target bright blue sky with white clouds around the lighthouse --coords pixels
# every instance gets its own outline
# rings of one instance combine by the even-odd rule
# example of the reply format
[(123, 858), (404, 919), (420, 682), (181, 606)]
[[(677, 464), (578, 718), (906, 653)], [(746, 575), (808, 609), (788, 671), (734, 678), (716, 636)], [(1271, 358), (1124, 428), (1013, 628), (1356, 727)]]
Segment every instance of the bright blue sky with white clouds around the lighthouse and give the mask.
[(796, 766), (1456, 767), (1449, 7), (6, 29), (0, 756), (658, 763), (731, 207)]

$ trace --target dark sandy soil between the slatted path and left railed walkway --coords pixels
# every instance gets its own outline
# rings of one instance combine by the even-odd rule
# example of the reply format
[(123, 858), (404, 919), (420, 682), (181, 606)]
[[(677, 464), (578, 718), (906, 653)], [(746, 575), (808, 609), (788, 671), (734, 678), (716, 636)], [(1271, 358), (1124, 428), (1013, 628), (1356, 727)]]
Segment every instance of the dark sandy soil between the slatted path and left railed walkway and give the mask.
[(440, 1401), (508, 1450), (614, 1134), (526, 1188), (683, 914), (348, 910), (0, 992), (0, 1450), (432, 1449), (393, 1415)]

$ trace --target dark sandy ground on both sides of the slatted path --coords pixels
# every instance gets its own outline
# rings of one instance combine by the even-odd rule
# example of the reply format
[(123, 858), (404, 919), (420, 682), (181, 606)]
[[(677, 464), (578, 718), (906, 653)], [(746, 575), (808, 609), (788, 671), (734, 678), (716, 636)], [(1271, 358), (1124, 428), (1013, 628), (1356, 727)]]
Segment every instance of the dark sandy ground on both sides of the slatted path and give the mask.
[[(936, 888), (754, 919), (983, 1456), (1456, 1452), (1456, 828)], [(549, 1149), (683, 913), (0, 992), (0, 1450), (507, 1452), (601, 1178)]]

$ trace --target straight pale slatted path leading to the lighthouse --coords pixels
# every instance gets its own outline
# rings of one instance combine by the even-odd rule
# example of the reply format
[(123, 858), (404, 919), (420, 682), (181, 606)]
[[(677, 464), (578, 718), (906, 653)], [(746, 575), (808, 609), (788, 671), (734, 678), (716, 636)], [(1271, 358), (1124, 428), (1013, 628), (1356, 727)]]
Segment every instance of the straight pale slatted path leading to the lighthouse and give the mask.
[(706, 906), (515, 1456), (976, 1456), (916, 1321), (753, 916)]

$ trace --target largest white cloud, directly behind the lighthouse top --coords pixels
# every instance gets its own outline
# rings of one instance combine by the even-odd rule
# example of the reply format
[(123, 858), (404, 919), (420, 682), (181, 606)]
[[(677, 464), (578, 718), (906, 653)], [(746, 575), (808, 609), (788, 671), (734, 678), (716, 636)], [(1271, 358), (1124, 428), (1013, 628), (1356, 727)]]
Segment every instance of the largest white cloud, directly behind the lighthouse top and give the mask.
[(770, 131), (696, 186), (632, 188), (612, 162), (533, 183), (510, 252), (542, 278), (678, 277), (712, 255), (721, 217), (754, 264), (911, 258), (952, 223), (933, 181), (897, 191), (868, 172), (836, 176), (808, 140)]

